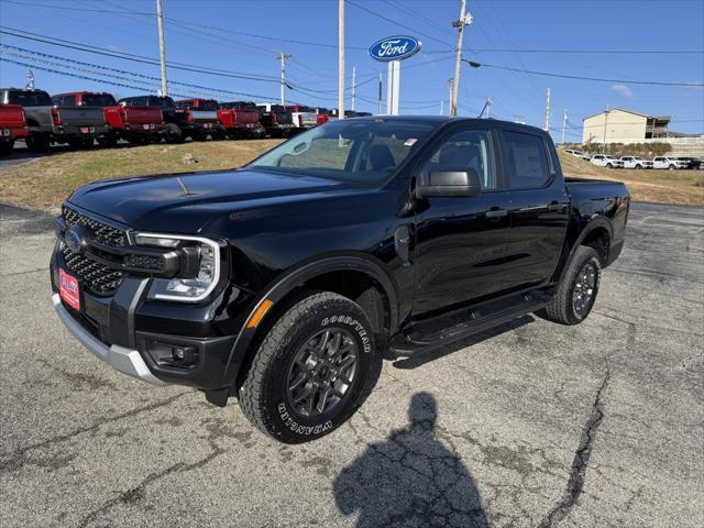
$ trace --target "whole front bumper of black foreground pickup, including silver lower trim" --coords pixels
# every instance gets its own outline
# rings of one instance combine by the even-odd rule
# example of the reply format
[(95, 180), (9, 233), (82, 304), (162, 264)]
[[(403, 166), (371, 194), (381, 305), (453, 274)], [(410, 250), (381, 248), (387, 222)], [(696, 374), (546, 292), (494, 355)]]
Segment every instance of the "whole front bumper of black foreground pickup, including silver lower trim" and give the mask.
[[(224, 285), (202, 304), (148, 300), (152, 279), (127, 275), (114, 295), (81, 289), (77, 311), (58, 295), (59, 268), (73, 273), (61, 240), (51, 262), (54, 308), (68, 330), (116, 370), (156, 385), (217, 391), (233, 384), (240, 367), (233, 346), (249, 315), (249, 294)], [(169, 348), (187, 350), (193, 361), (175, 364)]]

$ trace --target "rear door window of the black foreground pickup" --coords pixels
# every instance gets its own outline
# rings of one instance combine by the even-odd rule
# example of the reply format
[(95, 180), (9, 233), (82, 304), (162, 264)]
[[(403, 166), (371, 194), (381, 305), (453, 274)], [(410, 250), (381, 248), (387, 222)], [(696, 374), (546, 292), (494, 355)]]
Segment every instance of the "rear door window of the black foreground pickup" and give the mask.
[(521, 132), (504, 131), (508, 154), (512, 189), (542, 187), (550, 179), (548, 153), (542, 138)]

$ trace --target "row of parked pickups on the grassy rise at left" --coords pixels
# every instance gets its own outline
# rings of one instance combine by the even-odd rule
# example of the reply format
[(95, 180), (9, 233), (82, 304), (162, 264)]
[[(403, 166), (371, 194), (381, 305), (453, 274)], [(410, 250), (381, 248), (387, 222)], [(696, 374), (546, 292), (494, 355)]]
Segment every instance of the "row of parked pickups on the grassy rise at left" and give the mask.
[[(345, 112), (345, 117), (370, 116)], [(337, 119), (327, 108), (283, 106), (215, 99), (175, 101), (163, 96), (134, 96), (120, 100), (111, 94), (76, 91), (50, 96), (38, 89), (0, 89), (0, 153), (23, 139), (36, 152), (52, 144), (85, 148), (97, 142), (114, 146), (187, 139), (289, 138), (305, 129)]]

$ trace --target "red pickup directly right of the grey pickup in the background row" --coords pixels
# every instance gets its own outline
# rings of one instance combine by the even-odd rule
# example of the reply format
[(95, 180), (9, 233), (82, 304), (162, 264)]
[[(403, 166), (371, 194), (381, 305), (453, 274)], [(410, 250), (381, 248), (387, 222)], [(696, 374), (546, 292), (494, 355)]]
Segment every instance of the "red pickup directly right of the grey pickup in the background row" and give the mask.
[(105, 91), (77, 91), (58, 94), (58, 96), (75, 96), (77, 107), (102, 108), (106, 121), (110, 125), (110, 133), (102, 139), (98, 139), (98, 142), (103, 146), (114, 146), (119, 139), (135, 144), (146, 144), (161, 140), (161, 134), (164, 131), (164, 117), (160, 107), (118, 105), (114, 97)]

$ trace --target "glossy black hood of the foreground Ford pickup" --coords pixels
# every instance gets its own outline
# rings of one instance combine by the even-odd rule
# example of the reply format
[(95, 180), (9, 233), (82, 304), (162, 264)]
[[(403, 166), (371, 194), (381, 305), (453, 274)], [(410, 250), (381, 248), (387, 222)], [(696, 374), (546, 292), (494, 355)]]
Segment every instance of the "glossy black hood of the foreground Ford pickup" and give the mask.
[(96, 182), (68, 201), (130, 228), (195, 233), (218, 215), (350, 190), (324, 177), (238, 169)]

